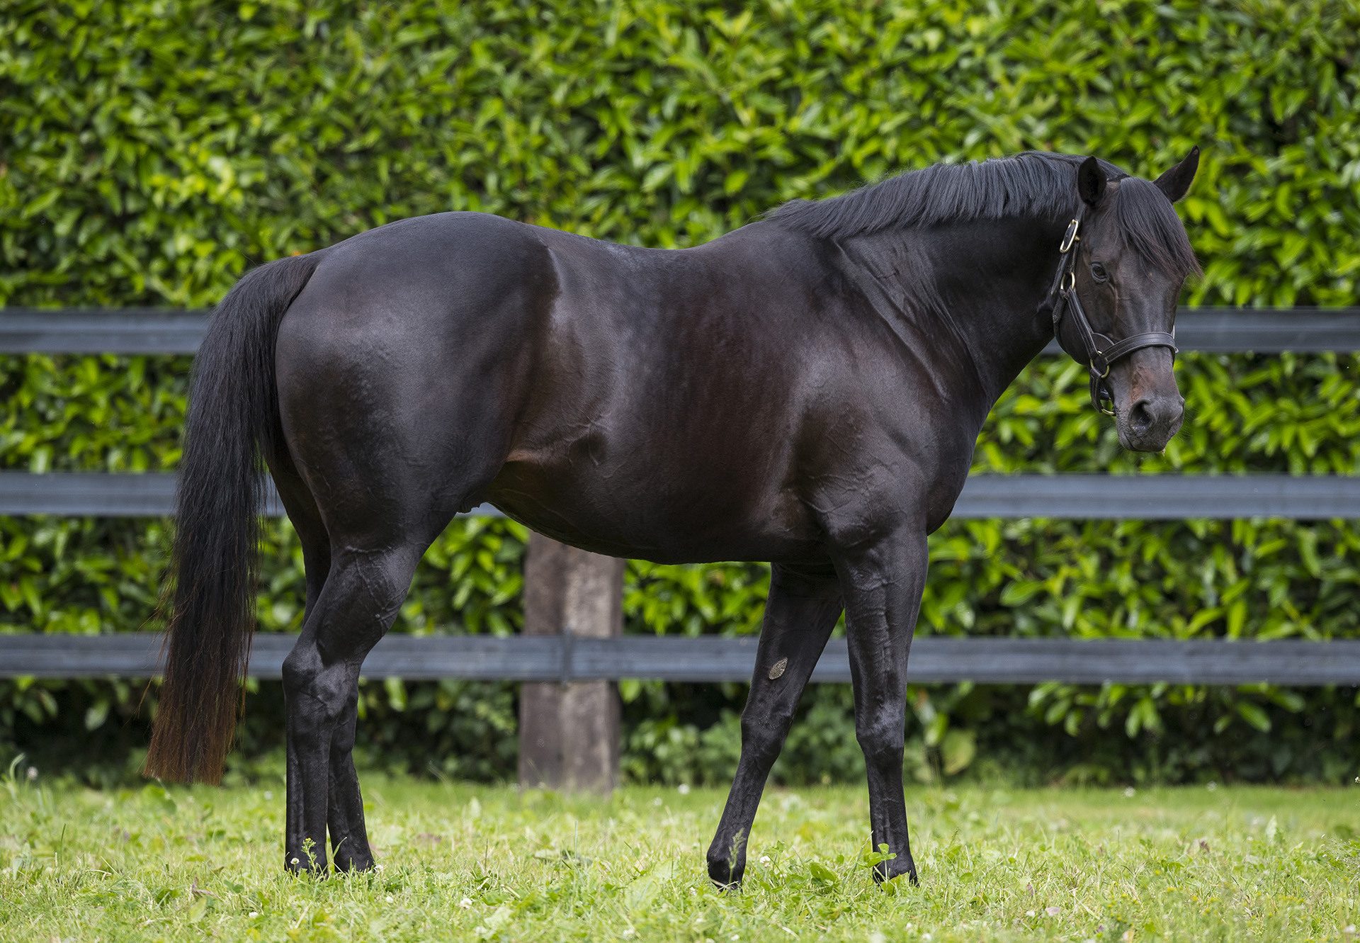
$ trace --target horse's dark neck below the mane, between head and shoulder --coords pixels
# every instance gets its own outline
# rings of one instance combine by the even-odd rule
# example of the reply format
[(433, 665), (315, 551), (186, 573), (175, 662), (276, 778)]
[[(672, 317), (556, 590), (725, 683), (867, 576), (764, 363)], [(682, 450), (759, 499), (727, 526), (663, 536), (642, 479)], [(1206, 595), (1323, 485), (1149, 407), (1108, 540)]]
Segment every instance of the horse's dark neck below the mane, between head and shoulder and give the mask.
[(1040, 305), (1061, 235), (1055, 220), (978, 220), (877, 233), (845, 250), (884, 293), (876, 306), (887, 317), (908, 318), (941, 355), (972, 365), (963, 382), (986, 411), (1053, 340)]

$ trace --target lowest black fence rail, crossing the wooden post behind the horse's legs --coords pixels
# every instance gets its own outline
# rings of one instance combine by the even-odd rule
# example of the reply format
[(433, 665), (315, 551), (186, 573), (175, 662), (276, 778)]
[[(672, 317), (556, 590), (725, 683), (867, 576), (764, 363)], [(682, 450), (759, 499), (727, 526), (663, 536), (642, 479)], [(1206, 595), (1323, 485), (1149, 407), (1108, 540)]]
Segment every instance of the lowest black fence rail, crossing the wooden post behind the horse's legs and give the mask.
[[(250, 675), (277, 679), (296, 635), (261, 633)], [(0, 635), (0, 678), (151, 678), (160, 635)], [(666, 682), (748, 682), (753, 637), (702, 635), (388, 635), (363, 663), (366, 678), (435, 680), (590, 682), (645, 678)], [(949, 638), (911, 645), (918, 683), (972, 680), (1034, 684), (1061, 680), (1183, 684), (1360, 684), (1360, 641), (1182, 641), (1078, 638)], [(813, 682), (850, 680), (843, 638), (832, 638)]]

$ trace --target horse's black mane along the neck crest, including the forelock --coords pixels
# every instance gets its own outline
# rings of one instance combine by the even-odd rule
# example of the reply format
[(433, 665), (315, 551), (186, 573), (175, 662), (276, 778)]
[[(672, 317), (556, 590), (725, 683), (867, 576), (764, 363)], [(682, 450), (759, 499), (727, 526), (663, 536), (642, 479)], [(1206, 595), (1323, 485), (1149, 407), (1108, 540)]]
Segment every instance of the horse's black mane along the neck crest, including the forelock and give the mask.
[[(770, 218), (812, 235), (850, 238), (888, 229), (971, 219), (1062, 218), (1077, 207), (1077, 167), (1085, 158), (1025, 151), (968, 163), (936, 163), (826, 200), (793, 200)], [(1107, 161), (1114, 219), (1129, 245), (1157, 268), (1185, 278), (1200, 272), (1185, 226), (1152, 182)]]

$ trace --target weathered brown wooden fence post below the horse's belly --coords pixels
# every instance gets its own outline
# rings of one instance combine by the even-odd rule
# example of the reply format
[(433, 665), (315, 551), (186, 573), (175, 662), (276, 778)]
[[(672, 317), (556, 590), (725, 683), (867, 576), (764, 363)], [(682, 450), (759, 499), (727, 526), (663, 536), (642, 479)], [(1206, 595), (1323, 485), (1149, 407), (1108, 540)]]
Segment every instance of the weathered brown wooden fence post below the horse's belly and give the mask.
[[(620, 634), (623, 567), (622, 559), (530, 535), (524, 567), (525, 634)], [(609, 792), (617, 778), (615, 684), (525, 683), (520, 693), (520, 785)]]

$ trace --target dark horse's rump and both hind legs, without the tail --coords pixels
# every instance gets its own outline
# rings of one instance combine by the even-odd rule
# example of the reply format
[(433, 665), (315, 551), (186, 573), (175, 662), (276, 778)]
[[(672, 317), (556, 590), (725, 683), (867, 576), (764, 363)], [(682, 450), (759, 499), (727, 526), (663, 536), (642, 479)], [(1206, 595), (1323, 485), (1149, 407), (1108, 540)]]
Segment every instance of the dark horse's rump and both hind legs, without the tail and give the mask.
[(328, 825), (339, 867), (371, 861), (351, 759), (359, 668), (426, 547), (506, 461), (552, 271), (533, 239), (408, 220), (330, 249), (279, 324), (279, 419), (330, 547), (284, 660), (290, 868), (325, 865)]

